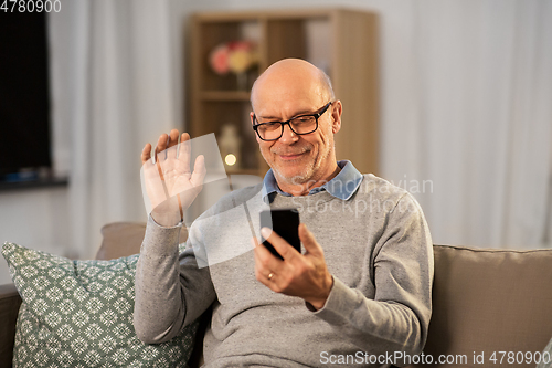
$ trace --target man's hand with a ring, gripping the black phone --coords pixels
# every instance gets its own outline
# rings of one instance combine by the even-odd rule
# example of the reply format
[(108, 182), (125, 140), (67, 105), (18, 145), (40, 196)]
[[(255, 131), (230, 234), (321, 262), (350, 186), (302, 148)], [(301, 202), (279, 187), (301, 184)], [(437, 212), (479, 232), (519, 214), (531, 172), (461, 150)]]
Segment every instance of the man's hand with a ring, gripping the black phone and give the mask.
[(282, 255), (283, 260), (268, 249), (255, 242), (255, 276), (276, 293), (298, 296), (320, 309), (326, 304), (333, 286), (333, 277), (328, 271), (323, 250), (304, 223), (298, 228), (305, 253), (299, 253), (288, 242), (268, 228), (261, 234)]

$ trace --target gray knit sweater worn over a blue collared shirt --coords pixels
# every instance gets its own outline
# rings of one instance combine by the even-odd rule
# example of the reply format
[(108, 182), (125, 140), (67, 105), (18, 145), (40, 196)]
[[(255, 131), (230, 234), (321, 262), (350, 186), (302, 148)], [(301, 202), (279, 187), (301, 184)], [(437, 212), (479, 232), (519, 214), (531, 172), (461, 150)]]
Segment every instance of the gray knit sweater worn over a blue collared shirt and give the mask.
[(224, 197), (190, 228), (182, 254), (181, 227), (161, 228), (150, 218), (136, 272), (140, 339), (168, 340), (213, 304), (204, 338), (208, 367), (317, 367), (344, 359), (347, 366), (389, 366), (389, 359), (370, 365), (369, 356), (422, 351), (433, 248), (410, 193), (365, 175), (349, 200), (326, 191), (276, 194), (270, 207), (299, 210), (333, 275), (317, 312), (256, 281), (251, 238), (264, 207), (261, 185)]

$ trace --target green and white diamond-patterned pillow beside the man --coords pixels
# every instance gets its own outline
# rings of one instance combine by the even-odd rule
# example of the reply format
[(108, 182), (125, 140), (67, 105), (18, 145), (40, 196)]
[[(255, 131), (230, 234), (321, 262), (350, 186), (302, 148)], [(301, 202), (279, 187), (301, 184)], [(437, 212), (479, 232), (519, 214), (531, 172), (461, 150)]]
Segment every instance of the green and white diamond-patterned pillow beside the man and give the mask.
[(187, 367), (198, 324), (147, 345), (132, 325), (138, 254), (71, 261), (4, 243), (19, 311), (13, 367)]

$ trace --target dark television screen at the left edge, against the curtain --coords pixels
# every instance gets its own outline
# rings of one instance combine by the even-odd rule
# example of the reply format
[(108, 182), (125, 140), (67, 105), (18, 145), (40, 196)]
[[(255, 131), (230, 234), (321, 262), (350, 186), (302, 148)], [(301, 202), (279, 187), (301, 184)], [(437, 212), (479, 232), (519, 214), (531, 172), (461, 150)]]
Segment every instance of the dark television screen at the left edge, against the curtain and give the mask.
[(0, 180), (51, 167), (46, 19), (0, 12)]

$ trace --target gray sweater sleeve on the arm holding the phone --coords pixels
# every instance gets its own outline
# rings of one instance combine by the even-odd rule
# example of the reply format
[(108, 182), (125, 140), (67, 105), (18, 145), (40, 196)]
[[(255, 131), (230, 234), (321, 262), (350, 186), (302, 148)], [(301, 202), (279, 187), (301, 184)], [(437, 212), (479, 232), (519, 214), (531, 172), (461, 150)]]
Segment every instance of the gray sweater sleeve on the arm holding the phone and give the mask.
[(432, 314), (433, 244), (422, 209), (410, 194), (388, 213), (372, 260), (363, 274), (373, 277), (373, 299), (335, 276), (326, 305), (316, 315), (363, 351), (417, 355)]

